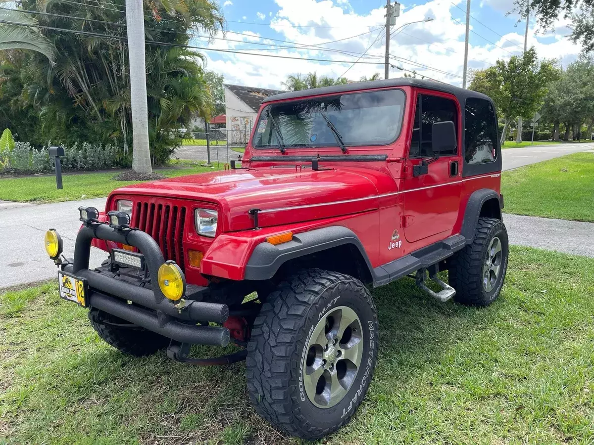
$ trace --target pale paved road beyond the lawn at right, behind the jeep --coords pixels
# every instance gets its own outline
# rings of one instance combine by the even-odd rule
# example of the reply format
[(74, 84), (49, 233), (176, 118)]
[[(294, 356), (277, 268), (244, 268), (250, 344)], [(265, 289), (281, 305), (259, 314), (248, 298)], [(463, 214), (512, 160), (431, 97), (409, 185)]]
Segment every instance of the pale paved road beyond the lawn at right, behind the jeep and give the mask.
[(533, 147), (505, 148), (501, 161), (502, 170), (517, 169), (518, 167), (535, 164), (541, 161), (558, 158), (566, 154), (594, 149), (593, 144), (549, 144), (534, 145)]

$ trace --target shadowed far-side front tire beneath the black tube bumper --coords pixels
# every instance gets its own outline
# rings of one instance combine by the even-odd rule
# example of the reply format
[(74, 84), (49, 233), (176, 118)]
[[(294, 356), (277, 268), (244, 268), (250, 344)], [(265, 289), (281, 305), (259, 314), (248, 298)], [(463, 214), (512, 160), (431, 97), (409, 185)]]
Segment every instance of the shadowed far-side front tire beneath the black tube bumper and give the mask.
[(169, 345), (168, 338), (151, 330), (136, 326), (117, 326), (129, 325), (129, 322), (100, 310), (91, 309), (89, 320), (103, 340), (124, 354), (143, 357), (154, 354)]

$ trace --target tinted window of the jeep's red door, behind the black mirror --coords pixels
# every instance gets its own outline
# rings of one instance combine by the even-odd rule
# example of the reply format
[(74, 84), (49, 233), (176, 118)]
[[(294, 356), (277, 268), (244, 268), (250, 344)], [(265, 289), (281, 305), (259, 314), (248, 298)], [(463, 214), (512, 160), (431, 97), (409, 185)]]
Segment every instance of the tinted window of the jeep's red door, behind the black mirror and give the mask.
[[(413, 124), (412, 138), (410, 141), (410, 157), (431, 157), (432, 125), (435, 122), (451, 120), (456, 128), (458, 137), (458, 112), (456, 103), (445, 97), (425, 96), (419, 94), (416, 101), (415, 123)], [(456, 154), (453, 150), (441, 151), (441, 156)]]

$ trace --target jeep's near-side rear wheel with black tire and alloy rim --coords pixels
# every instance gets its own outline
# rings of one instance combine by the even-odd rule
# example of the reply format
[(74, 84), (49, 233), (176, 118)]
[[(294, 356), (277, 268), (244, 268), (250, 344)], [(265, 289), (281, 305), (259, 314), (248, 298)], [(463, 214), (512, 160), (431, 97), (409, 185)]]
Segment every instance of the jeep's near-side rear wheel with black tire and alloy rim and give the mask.
[(503, 287), (508, 252), (503, 222), (479, 218), (472, 243), (448, 259), (448, 278), (456, 289), (454, 300), (468, 306), (488, 306), (495, 301)]

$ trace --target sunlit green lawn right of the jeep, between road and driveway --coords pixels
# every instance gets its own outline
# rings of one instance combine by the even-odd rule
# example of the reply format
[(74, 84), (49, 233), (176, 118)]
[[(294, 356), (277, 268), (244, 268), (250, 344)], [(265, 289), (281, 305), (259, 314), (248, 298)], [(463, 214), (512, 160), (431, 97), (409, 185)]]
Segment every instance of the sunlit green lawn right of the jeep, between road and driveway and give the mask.
[(501, 176), (505, 212), (594, 222), (594, 153), (575, 153)]

